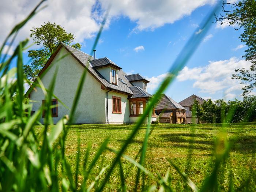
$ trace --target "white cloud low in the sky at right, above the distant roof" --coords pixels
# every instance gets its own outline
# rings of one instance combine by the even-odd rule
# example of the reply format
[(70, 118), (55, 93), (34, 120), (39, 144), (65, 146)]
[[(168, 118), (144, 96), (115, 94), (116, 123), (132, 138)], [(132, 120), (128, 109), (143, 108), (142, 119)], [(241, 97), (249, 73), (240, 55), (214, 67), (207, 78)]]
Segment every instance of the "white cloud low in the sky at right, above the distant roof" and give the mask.
[(231, 98), (231, 94), (239, 96), (244, 87), (244, 84), (240, 84), (240, 80), (231, 79), (234, 70), (249, 69), (250, 65), (249, 61), (239, 60), (236, 57), (229, 60), (209, 61), (205, 67), (184, 67), (177, 76), (177, 80), (194, 80), (193, 87), (200, 89), (200, 92), (214, 94), (222, 91), (224, 97)]

